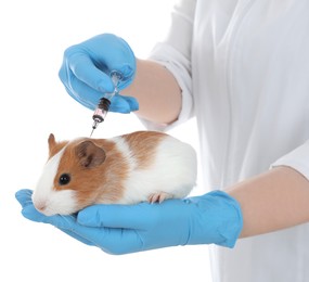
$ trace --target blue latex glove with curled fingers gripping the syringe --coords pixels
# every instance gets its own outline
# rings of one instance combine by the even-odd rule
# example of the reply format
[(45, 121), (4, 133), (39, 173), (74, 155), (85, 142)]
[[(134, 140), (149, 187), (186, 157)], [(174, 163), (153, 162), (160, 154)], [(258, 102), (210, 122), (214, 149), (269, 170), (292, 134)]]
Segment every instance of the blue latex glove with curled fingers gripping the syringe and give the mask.
[[(59, 76), (70, 97), (94, 110), (103, 94), (114, 90), (110, 73), (123, 74), (118, 84), (121, 90), (132, 82), (136, 68), (136, 56), (129, 44), (115, 35), (103, 34), (66, 49)], [(130, 113), (138, 108), (134, 98), (116, 94), (110, 111)]]

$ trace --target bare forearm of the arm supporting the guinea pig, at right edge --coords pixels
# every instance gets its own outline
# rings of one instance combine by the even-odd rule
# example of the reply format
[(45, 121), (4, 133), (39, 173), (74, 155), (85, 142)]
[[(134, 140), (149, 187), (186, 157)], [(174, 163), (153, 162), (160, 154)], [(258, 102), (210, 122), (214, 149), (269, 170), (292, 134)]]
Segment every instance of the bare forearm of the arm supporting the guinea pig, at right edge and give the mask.
[(278, 231), (309, 221), (309, 181), (287, 166), (240, 182), (227, 191), (243, 213), (241, 238)]

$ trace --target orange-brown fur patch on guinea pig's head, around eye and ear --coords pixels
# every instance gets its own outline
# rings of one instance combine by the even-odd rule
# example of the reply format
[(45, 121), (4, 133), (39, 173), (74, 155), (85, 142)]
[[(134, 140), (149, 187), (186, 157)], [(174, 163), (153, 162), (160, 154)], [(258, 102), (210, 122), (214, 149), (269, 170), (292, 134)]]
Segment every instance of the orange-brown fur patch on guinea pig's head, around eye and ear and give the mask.
[[(86, 167), (76, 153), (76, 146), (89, 140), (105, 151), (105, 161), (98, 166)], [(59, 179), (63, 174), (70, 176), (66, 185), (61, 185)], [(76, 191), (77, 202), (85, 207), (100, 203), (115, 203), (124, 193), (124, 180), (128, 175), (128, 164), (116, 149), (113, 141), (104, 139), (82, 139), (67, 144), (59, 164), (54, 179), (54, 189)]]

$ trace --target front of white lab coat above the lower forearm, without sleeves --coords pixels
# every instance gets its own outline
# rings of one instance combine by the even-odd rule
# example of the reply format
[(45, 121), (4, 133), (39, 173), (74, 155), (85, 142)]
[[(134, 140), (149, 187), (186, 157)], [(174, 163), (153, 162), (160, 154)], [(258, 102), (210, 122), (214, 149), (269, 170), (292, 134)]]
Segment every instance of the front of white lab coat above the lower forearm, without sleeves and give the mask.
[(195, 11), (204, 175), (208, 185), (223, 188), (309, 138), (309, 1), (201, 0)]

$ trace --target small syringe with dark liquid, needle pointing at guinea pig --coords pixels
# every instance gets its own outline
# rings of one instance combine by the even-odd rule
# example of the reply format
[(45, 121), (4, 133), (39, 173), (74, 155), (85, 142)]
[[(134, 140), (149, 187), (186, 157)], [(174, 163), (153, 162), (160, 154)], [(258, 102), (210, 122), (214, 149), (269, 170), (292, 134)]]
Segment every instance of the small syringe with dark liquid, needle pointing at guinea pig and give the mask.
[(92, 115), (93, 125), (92, 125), (92, 131), (90, 133), (90, 137), (92, 136), (92, 133), (93, 133), (94, 129), (98, 127), (98, 125), (100, 123), (104, 121), (104, 119), (108, 113), (111, 101), (112, 101), (113, 97), (119, 92), (118, 84), (123, 79), (123, 75), (117, 70), (113, 70), (113, 72), (111, 72), (111, 78), (112, 78), (112, 81), (114, 84), (114, 91), (111, 93), (105, 93), (104, 97), (102, 97), (100, 99), (99, 105)]

